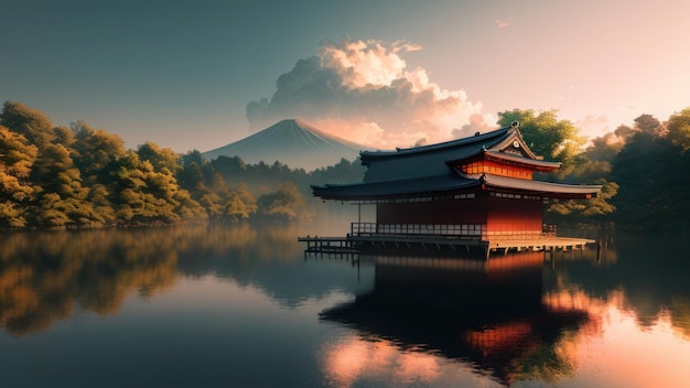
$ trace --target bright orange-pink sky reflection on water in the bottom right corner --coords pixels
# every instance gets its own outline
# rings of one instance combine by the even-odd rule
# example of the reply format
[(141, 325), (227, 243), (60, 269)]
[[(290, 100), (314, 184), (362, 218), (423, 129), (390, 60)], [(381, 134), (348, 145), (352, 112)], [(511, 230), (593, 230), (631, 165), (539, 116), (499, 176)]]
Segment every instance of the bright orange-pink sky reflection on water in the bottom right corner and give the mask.
[(601, 300), (563, 291), (547, 295), (545, 302), (553, 308), (584, 308), (593, 315), (596, 324), (585, 325), (568, 340), (570, 344), (562, 344), (574, 352), (578, 375), (597, 376), (600, 387), (686, 386), (690, 341), (679, 337), (670, 314), (642, 327), (636, 313), (625, 308), (623, 292)]

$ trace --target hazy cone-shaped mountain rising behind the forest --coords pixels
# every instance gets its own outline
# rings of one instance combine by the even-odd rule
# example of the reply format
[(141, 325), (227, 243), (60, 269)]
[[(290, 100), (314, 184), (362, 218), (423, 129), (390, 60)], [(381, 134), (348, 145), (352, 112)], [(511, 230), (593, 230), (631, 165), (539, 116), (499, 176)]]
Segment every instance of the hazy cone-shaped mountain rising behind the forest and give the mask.
[(302, 120), (290, 119), (202, 155), (208, 160), (220, 155), (239, 157), (250, 164), (280, 161), (291, 169), (311, 171), (333, 165), (343, 158), (353, 161), (360, 150), (371, 149), (323, 132)]

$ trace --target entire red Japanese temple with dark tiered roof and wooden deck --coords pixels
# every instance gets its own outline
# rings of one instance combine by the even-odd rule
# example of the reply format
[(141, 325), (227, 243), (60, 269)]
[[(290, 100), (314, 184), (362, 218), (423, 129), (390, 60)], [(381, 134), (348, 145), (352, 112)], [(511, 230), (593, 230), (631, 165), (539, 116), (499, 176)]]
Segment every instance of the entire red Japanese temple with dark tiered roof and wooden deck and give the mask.
[(352, 223), (345, 238), (300, 238), (308, 250), (479, 247), (488, 257), (489, 251), (565, 250), (592, 242), (545, 230), (543, 207), (551, 198), (595, 197), (601, 185), (533, 180), (561, 163), (535, 155), (517, 121), (443, 143), (362, 151), (360, 159), (367, 166), (363, 182), (312, 190), (324, 201), (375, 206), (375, 222)]

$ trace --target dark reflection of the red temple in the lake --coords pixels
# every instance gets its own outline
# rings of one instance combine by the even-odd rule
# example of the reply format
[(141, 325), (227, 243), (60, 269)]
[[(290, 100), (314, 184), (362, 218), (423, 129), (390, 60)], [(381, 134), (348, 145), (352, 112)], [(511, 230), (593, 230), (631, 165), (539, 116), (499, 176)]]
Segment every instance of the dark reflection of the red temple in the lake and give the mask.
[(543, 252), (492, 258), (363, 256), (367, 293), (321, 313), (365, 338), (468, 363), (504, 385), (574, 373), (558, 344), (590, 322), (584, 310), (542, 302)]

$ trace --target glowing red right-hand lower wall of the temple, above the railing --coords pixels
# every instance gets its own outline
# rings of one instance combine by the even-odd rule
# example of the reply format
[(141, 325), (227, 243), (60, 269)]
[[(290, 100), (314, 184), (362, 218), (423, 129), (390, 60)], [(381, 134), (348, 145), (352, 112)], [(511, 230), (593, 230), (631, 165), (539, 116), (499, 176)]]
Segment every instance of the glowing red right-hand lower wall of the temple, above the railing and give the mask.
[(488, 235), (541, 233), (541, 200), (489, 197), (486, 229)]

